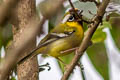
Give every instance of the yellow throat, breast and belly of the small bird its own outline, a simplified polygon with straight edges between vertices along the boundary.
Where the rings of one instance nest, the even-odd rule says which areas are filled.
[[[71,28],[75,28],[76,29],[75,33],[71,35],[70,37],[59,39],[51,43],[50,45],[48,45],[46,49],[48,55],[53,56],[53,57],[64,56],[69,53],[61,54],[60,53],[61,51],[68,50],[68,49],[71,49],[71,48],[74,48],[80,45],[83,39],[83,36],[84,36],[82,26],[77,22],[66,22],[66,25]]]

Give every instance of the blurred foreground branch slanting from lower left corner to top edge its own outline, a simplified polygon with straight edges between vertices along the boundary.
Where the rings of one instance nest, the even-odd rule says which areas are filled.
[[[52,7],[52,11],[49,10],[45,14],[57,13],[57,11],[61,8],[60,6],[62,6],[64,0],[55,0],[54,2],[59,4],[56,5],[53,3],[54,7]],[[48,5],[46,4],[46,6]],[[52,16],[54,15],[47,15],[47,17],[44,16],[44,19],[50,18]],[[25,28],[22,32],[20,36],[21,40],[16,40],[16,44],[18,43],[16,47],[7,51],[8,56],[5,57],[4,61],[0,64],[0,80],[5,80],[6,76],[10,73],[11,69],[13,69],[14,66],[17,64],[19,57],[22,55],[21,53],[24,53],[25,50],[29,48],[28,44],[32,42],[33,38],[36,38],[36,35],[44,22],[43,20],[39,21],[39,19],[36,16],[33,16],[28,22],[28,25],[26,25],[29,26],[29,28]]]

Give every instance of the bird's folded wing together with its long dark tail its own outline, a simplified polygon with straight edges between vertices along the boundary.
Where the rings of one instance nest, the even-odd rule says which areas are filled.
[[[48,45],[49,43],[52,43],[58,39],[61,39],[61,38],[65,38],[65,37],[68,37],[70,36],[72,33],[71,32],[68,32],[66,33],[64,31],[64,28],[66,27],[66,25],[59,25],[57,27],[55,27],[48,35],[46,35],[42,40],[41,42],[39,43],[39,45],[33,49],[29,55],[25,56],[23,59],[21,59],[18,64],[20,64],[21,62],[25,61],[26,59],[28,59],[29,57],[32,57],[32,56],[36,56],[37,54],[34,54],[34,52],[36,50],[38,50],[39,48],[41,47],[44,47],[46,45]]]

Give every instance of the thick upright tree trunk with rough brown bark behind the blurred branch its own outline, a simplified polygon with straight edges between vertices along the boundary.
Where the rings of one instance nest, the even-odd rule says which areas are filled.
[[[32,16],[36,15],[35,0],[20,0],[11,21],[13,24],[13,44],[17,45],[16,40],[21,42],[19,37],[25,28],[29,28],[26,24]],[[22,43],[22,42],[21,42]],[[32,39],[32,43],[28,45],[29,49],[25,50],[24,57],[32,49],[36,47],[36,39]],[[17,65],[18,80],[38,80],[38,62],[37,57],[26,60],[24,63]]]

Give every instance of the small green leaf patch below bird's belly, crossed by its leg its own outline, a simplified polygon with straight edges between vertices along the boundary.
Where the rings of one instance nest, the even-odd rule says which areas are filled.
[[[68,55],[59,57],[65,64],[69,64],[72,60],[72,58],[74,57],[74,53],[70,53]],[[62,72],[64,72],[65,70],[65,64],[63,64],[61,61],[58,60],[58,64],[59,67],[61,68]]]

